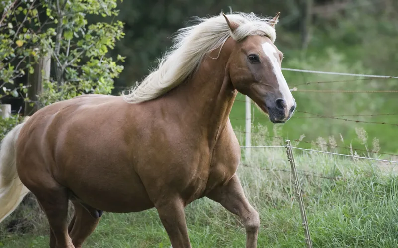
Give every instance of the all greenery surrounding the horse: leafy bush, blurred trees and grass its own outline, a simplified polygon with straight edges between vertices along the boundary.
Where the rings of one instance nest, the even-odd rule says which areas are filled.
[[[14,116],[0,120],[0,138],[21,120],[17,113],[23,113],[24,101],[44,106],[83,93],[120,94],[148,74],[171,46],[173,33],[191,25],[193,16],[216,15],[228,7],[266,16],[281,12],[275,44],[284,52],[285,68],[398,76],[396,0],[3,0],[0,101],[12,103]],[[27,79],[45,54],[51,55],[51,76],[43,82],[43,94],[32,101],[26,98]],[[255,144],[280,145],[281,139],[272,138],[277,136],[299,139],[295,145],[300,147],[354,154],[355,149],[336,148],[352,146],[365,150],[358,150],[359,155],[397,159],[367,150],[398,154],[398,93],[301,90],[398,90],[398,79],[290,71],[284,75],[290,88],[297,88],[297,112],[286,124],[275,125],[253,108]],[[241,144],[243,101],[238,95],[230,115]],[[394,167],[294,152],[302,174],[327,177],[300,176],[315,247],[398,246]],[[252,150],[239,168],[246,194],[260,212],[259,247],[303,247],[286,170],[284,150],[274,149]],[[206,199],[187,207],[187,220],[193,247],[244,244],[239,220]],[[47,244],[46,219],[30,198],[0,225],[0,246]],[[154,210],[105,213],[88,240],[88,247],[94,248],[168,246]]]

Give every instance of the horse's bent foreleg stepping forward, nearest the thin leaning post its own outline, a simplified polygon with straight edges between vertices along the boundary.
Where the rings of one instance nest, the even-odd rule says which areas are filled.
[[[260,218],[246,199],[238,176],[235,174],[226,185],[215,188],[207,197],[242,218],[246,229],[246,248],[256,248]]]

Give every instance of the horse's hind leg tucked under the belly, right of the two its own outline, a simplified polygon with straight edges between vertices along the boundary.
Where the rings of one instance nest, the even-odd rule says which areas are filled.
[[[69,236],[76,248],[81,248],[83,242],[96,229],[102,211],[93,209],[89,206],[83,206],[81,203],[73,201],[75,214],[69,224]]]

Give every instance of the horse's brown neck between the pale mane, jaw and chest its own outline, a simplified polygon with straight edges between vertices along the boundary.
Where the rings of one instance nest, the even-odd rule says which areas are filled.
[[[210,146],[228,123],[237,94],[226,70],[233,44],[228,39],[220,53],[217,49],[206,56],[194,76],[174,92],[184,109],[183,120],[189,120],[200,132],[205,131]]]

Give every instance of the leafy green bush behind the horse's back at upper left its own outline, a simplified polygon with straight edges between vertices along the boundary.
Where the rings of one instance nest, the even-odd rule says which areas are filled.
[[[119,13],[116,6],[116,0],[8,1],[0,23],[3,85],[14,83],[26,71],[33,73],[37,59],[50,53],[55,70],[44,82],[41,104],[80,94],[109,94],[114,78],[123,70],[117,62],[123,62],[124,57],[117,55],[114,60],[107,55],[124,37],[123,23],[89,23],[87,16],[115,18]],[[15,90],[4,91],[9,94]]]

